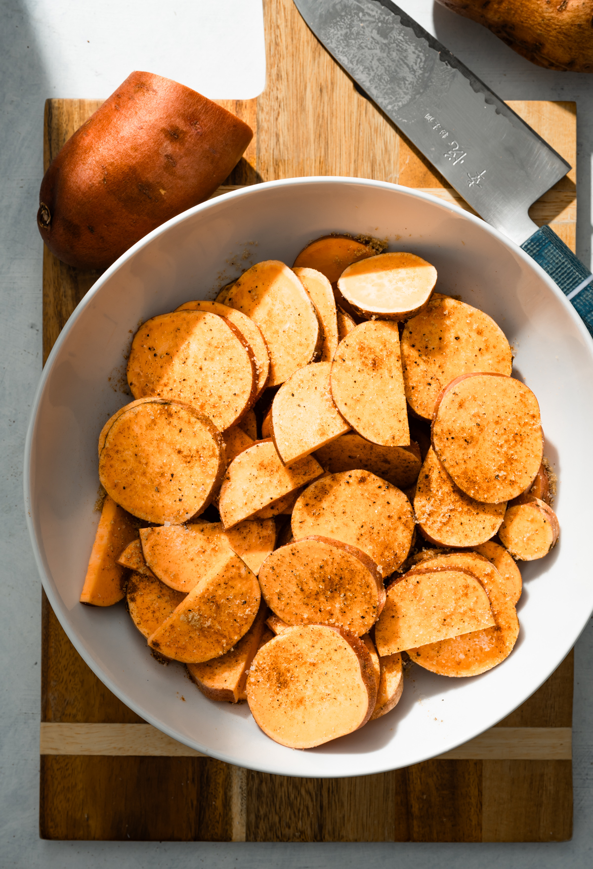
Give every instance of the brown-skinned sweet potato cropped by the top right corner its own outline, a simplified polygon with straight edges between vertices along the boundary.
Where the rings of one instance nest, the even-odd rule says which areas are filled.
[[[593,72],[593,0],[438,0],[549,70]]]

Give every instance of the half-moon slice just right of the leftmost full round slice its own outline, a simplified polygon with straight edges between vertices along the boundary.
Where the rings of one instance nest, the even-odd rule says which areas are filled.
[[[222,481],[219,511],[224,527],[249,519],[321,474],[323,468],[312,456],[285,468],[273,441],[257,441],[230,463]]]

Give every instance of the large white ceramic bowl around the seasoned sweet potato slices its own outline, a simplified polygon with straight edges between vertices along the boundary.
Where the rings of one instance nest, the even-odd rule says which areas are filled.
[[[560,541],[522,567],[521,632],[511,656],[471,679],[414,667],[396,709],[306,752],[261,733],[247,704],[207,700],[185,668],[151,657],[123,604],[78,602],[95,535],[96,443],[123,394],[132,334],[181,302],[214,298],[253,262],[288,264],[332,231],[387,238],[434,263],[437,289],[490,314],[515,348],[515,374],[537,395],[557,471]],[[31,540],[51,606],[97,676],[176,740],[238,766],[299,776],[350,776],[409,766],[497,723],[552,673],[593,609],[593,342],[529,256],[486,223],[432,196],[384,182],[294,178],[205,202],[148,235],[84,297],[53,348],[36,395],[25,455]],[[186,702],[181,702],[181,695]]]

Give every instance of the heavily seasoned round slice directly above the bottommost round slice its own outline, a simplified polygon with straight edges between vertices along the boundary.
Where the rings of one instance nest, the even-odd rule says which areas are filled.
[[[310,536],[268,555],[260,567],[267,606],[287,625],[323,622],[366,634],[385,603],[371,559],[341,541]]]

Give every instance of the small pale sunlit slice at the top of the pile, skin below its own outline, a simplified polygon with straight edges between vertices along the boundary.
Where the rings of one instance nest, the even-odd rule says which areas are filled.
[[[338,289],[365,320],[407,320],[425,308],[436,282],[430,262],[398,251],[353,262],[339,276]]]

